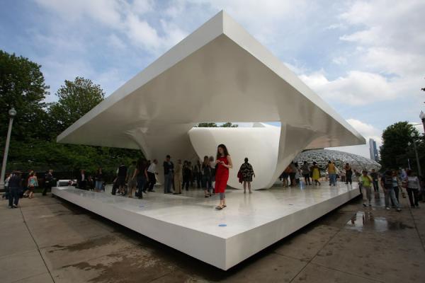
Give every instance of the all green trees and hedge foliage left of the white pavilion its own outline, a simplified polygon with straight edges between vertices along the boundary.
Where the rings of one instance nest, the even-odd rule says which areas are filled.
[[[55,139],[105,97],[101,86],[81,77],[64,81],[56,93],[57,102],[44,102],[49,94],[40,65],[24,57],[0,50],[0,146],[8,127],[8,110],[16,108],[7,170],[29,169],[89,173],[98,166],[112,175],[120,163],[130,163],[142,156],[141,151],[101,146],[58,144]]]

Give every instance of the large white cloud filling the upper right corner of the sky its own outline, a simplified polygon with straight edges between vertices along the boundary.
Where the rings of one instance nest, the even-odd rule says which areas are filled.
[[[378,71],[424,73],[424,13],[422,0],[354,1],[339,18],[356,31],[341,40],[363,47],[361,62]]]

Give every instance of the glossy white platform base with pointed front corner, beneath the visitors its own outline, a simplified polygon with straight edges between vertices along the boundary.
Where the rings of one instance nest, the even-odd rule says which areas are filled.
[[[359,195],[357,186],[273,187],[244,194],[226,192],[227,205],[215,211],[217,196],[202,190],[183,195],[149,192],[143,200],[53,187],[52,193],[166,246],[228,270]]]

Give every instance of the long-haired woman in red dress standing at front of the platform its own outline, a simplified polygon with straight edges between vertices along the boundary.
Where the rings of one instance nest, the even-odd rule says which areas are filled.
[[[224,144],[220,144],[217,147],[217,160],[215,163],[215,193],[220,194],[220,205],[215,207],[215,209],[221,210],[226,207],[225,191],[227,180],[229,180],[229,168],[233,167],[232,158],[230,158],[227,147]]]

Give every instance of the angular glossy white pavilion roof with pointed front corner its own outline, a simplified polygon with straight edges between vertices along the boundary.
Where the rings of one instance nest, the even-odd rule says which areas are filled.
[[[223,11],[118,88],[57,141],[142,147],[150,155],[152,146],[168,144],[158,143],[158,138],[186,142],[186,133],[196,123],[227,121],[280,121],[322,133],[310,148],[365,143]]]

